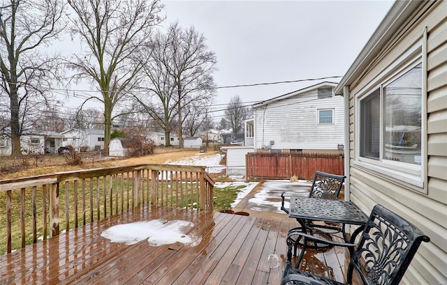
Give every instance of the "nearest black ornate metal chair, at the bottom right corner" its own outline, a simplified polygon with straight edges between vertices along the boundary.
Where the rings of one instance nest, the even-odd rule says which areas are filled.
[[[358,245],[332,242],[306,233],[298,234],[306,240],[318,239],[318,242],[356,249],[351,254],[346,278],[347,284],[352,284],[354,270],[358,272],[363,284],[399,284],[420,243],[430,242],[430,238],[425,236],[416,226],[381,205],[374,206]],[[342,284],[299,270],[299,261],[296,267],[293,267],[291,250],[291,246],[289,246],[288,260],[286,261],[281,284]],[[302,250],[305,250],[305,248]]]

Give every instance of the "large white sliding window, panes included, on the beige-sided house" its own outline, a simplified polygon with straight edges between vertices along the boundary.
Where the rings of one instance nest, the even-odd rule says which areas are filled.
[[[373,91],[358,96],[356,162],[424,187],[423,65],[420,57],[407,62],[379,79]]]

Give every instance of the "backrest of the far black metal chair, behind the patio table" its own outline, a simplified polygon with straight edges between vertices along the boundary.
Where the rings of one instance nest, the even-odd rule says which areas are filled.
[[[337,200],[346,176],[316,171],[309,198]]]

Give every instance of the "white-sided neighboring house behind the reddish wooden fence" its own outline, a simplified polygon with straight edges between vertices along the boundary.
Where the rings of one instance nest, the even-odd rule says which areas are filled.
[[[339,153],[344,144],[343,98],[323,82],[253,105],[245,145],[270,152]]]

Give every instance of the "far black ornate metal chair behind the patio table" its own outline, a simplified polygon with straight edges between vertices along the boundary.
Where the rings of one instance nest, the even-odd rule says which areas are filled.
[[[332,199],[337,200],[338,195],[340,193],[340,190],[342,189],[342,185],[344,183],[344,179],[346,176],[340,176],[335,174],[327,174],[322,171],[316,171],[314,176],[314,182],[312,183],[311,190],[309,192],[309,198],[315,198],[315,199]],[[293,192],[293,191],[284,191],[281,193],[281,210],[284,210],[288,214],[289,210],[284,206],[285,197],[284,194],[286,192]],[[325,238],[328,238],[332,240],[331,233],[339,233],[340,228],[337,225],[320,225],[315,224],[312,221],[309,221],[307,219],[297,219],[297,221],[300,223],[301,226],[291,229],[289,233],[289,240],[294,241],[294,255],[296,256],[297,247],[298,245],[302,245],[302,242],[300,241],[300,237],[293,238],[290,233],[293,233],[295,231],[302,231],[303,227],[306,229],[307,233],[309,234],[318,234],[320,236],[324,236]],[[316,248],[316,249],[327,249],[330,247],[326,244],[319,244],[318,242],[314,242],[312,245],[309,245],[309,247]]]

